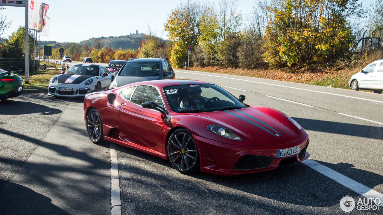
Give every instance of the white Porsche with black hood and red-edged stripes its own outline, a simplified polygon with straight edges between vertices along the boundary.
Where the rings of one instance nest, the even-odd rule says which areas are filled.
[[[65,73],[56,75],[49,81],[51,96],[84,97],[87,93],[102,91],[114,79],[113,73],[96,64],[77,64]]]

